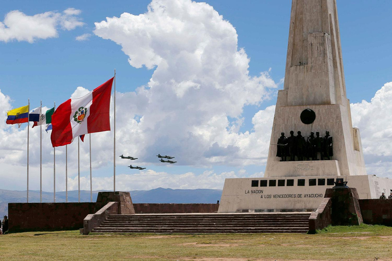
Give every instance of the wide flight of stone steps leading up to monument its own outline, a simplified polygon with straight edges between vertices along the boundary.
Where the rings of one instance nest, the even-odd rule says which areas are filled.
[[[96,233],[306,233],[311,213],[110,215]]]

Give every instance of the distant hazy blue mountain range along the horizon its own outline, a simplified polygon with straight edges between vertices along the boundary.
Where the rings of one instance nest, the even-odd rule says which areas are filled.
[[[96,196],[100,191],[92,192],[92,201],[96,201]],[[173,189],[153,189],[153,190],[133,190],[130,191],[133,203],[216,203],[220,200],[222,190],[173,190]],[[1,190],[0,189],[0,217],[8,215],[8,203],[26,202],[26,191]],[[40,201],[39,191],[29,190],[29,203]],[[53,202],[53,192],[42,191],[42,202]],[[65,202],[65,191],[56,192],[56,202]],[[68,191],[68,202],[78,202],[78,191]],[[90,191],[80,191],[80,202],[90,202]]]

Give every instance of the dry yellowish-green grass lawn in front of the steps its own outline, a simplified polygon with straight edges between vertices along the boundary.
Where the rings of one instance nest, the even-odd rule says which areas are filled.
[[[388,260],[392,228],[328,227],[317,234],[90,234],[0,236],[1,260]]]

